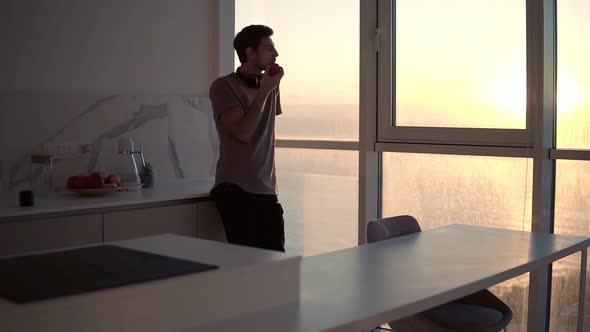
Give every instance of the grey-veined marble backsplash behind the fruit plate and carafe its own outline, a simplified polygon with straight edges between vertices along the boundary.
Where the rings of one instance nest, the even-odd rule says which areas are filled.
[[[119,138],[143,145],[155,182],[212,176],[218,138],[208,97],[192,95],[0,94],[0,179],[3,190],[37,176],[31,154],[60,143],[88,145],[54,161],[54,186],[81,172],[112,172],[124,156]]]

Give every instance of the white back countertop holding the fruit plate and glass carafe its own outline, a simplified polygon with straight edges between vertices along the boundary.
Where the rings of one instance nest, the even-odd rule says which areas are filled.
[[[80,196],[72,192],[35,195],[35,205],[20,207],[18,193],[0,193],[0,222],[38,219],[60,214],[80,214],[92,210],[153,204],[186,199],[205,199],[213,186],[213,178],[177,180],[156,183],[154,188],[140,191],[113,192],[104,196]]]

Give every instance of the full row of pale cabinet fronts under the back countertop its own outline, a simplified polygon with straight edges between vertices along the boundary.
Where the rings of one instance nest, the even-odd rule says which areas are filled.
[[[56,250],[157,234],[225,242],[215,202],[0,223],[0,256]]]

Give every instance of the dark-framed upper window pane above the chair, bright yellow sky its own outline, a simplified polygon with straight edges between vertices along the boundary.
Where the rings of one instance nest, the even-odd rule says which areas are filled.
[[[396,125],[526,128],[525,1],[397,0]]]

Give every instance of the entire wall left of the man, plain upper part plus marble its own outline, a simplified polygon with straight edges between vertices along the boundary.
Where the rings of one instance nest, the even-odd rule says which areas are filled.
[[[201,97],[218,74],[217,13],[216,0],[0,1],[6,187],[30,177],[27,160],[47,143],[100,149],[61,162],[61,173],[108,172],[116,156],[105,144],[120,137],[144,143],[162,178],[211,175],[216,142]]]

